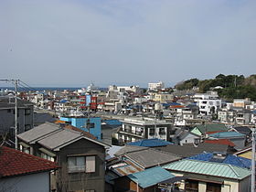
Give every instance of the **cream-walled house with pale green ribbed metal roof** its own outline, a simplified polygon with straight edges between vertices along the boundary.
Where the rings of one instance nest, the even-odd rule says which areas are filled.
[[[187,177],[180,183],[186,191],[251,191],[251,171],[236,165],[183,159],[163,168],[175,176]]]

